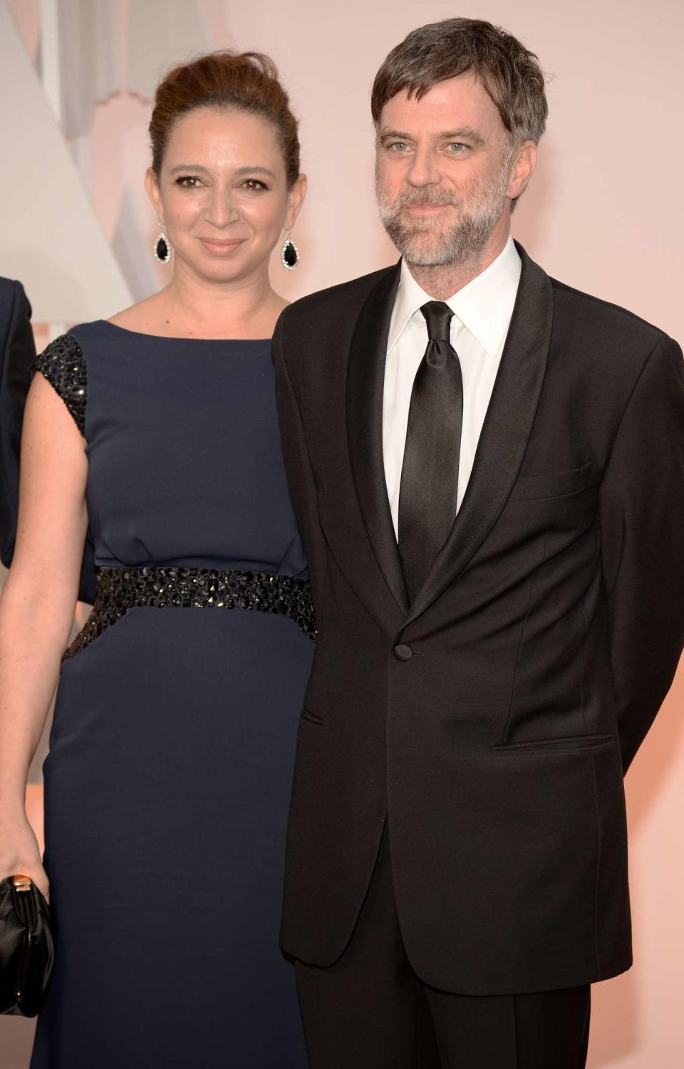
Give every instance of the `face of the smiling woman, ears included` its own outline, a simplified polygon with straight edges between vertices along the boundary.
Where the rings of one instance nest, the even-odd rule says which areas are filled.
[[[276,129],[237,109],[196,108],[169,135],[145,185],[178,266],[206,281],[247,281],[294,226],[306,179],[287,188]]]

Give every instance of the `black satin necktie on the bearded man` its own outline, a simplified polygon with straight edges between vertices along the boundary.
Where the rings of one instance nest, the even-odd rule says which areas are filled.
[[[413,601],[456,517],[463,378],[450,342],[453,312],[423,305],[428,348],[410,396],[399,492],[399,552]]]

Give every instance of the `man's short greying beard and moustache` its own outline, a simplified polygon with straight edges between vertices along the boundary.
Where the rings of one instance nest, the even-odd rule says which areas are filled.
[[[492,232],[501,218],[510,166],[507,160],[492,185],[465,201],[445,190],[425,186],[405,189],[389,204],[376,179],[375,192],[383,226],[404,260],[415,267],[463,266],[478,262]],[[409,205],[451,204],[457,219],[446,229],[437,229],[435,219],[406,219],[403,208]]]

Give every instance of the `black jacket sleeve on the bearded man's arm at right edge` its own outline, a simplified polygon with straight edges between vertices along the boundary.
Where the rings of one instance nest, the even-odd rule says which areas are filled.
[[[684,362],[663,338],[639,375],[601,489],[604,587],[626,772],[684,645]]]

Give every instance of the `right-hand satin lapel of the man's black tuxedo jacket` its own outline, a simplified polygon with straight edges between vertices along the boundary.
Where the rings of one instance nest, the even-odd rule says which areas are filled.
[[[432,605],[483,543],[506,505],[537,414],[550,340],[553,295],[547,275],[516,248],[523,270],[472,474],[447,542],[437,554],[404,625]]]

